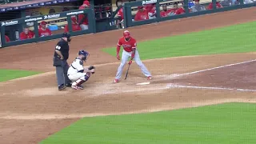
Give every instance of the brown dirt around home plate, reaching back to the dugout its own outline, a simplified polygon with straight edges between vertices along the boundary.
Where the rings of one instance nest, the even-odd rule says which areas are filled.
[[[130,31],[139,41],[161,38],[254,21],[255,10],[184,18],[138,26]],[[153,27],[154,32],[150,32]],[[174,110],[221,102],[256,102],[254,91],[237,90],[256,90],[254,53],[148,60],[145,64],[154,76],[150,85],[136,86],[147,80],[135,64],[126,81],[112,83],[119,63],[101,48],[115,46],[121,33],[122,30],[114,30],[73,38],[70,58],[86,48],[90,51],[89,64],[98,64],[96,74],[85,84],[86,90],[58,92],[55,75],[50,72],[54,70],[51,60],[56,41],[0,50],[2,68],[48,72],[0,83],[0,143],[38,143],[85,116]],[[11,63],[10,58],[14,58]],[[216,68],[219,66],[222,67]]]

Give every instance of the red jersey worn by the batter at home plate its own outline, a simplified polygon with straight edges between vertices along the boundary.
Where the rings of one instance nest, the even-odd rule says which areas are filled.
[[[123,50],[126,50],[127,52],[131,52],[133,51],[133,49],[137,48],[137,43],[134,38],[130,37],[130,40],[126,41],[126,39],[122,37],[118,41],[118,46],[122,46]]]

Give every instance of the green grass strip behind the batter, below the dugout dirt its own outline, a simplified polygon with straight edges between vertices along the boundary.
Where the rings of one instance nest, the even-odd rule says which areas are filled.
[[[138,42],[138,51],[141,59],[250,52],[255,51],[256,47],[254,31],[256,21]],[[103,51],[113,56],[116,54],[115,48],[106,48]]]

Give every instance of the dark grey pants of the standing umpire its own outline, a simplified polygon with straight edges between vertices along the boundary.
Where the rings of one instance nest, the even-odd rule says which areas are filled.
[[[67,70],[69,69],[69,65],[66,62],[66,60],[60,60],[60,59],[59,59],[59,64],[60,65],[55,66],[58,86],[62,84],[66,85],[71,82],[70,79],[67,77]]]

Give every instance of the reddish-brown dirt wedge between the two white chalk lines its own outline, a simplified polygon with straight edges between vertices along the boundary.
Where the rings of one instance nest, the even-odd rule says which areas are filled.
[[[216,67],[198,73],[182,75],[177,78],[175,85],[182,87],[197,86],[198,88],[208,87],[211,89],[221,88],[223,90],[246,90],[256,92],[256,59],[240,62],[237,64]]]

